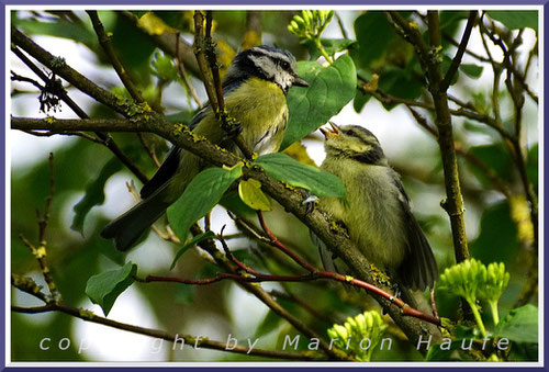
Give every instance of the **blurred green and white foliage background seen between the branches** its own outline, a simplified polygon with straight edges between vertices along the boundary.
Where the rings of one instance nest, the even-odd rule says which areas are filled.
[[[145,13],[145,12],[143,12]],[[307,45],[299,43],[298,37],[290,34],[285,25],[295,12],[265,11],[261,20],[262,42],[291,50],[298,60],[310,58]],[[187,97],[179,82],[159,83],[158,74],[154,74],[152,65],[159,60],[159,50],[150,38],[124,16],[113,11],[100,11],[100,18],[107,29],[112,32],[113,46],[121,57],[132,78],[138,83],[147,100],[158,103],[167,115],[177,115],[183,121],[192,116],[197,105]],[[155,12],[166,24],[181,31],[182,36],[192,43],[192,12]],[[373,74],[380,76],[379,88],[384,92],[403,99],[421,99],[425,97],[422,72],[414,50],[384,21],[381,13],[361,11],[338,11],[344,29],[349,38],[358,44],[349,47],[356,67],[368,80]],[[220,45],[219,58],[227,64],[235,52],[244,43],[249,42],[246,31],[246,11],[214,11],[215,35]],[[467,12],[441,12],[441,27],[445,33],[459,41],[464,27]],[[12,23],[29,34],[44,48],[64,56],[67,63],[82,71],[90,80],[102,87],[123,94],[124,91],[113,74],[110,64],[102,54],[86,13],[14,11]],[[517,31],[514,31],[516,35]],[[334,20],[325,34],[326,37],[341,38],[337,21]],[[517,64],[526,64],[526,59],[537,40],[536,31],[528,27],[523,32],[523,45],[517,48]],[[471,45],[482,54],[478,30],[473,31]],[[57,49],[57,52],[54,52]],[[501,58],[501,50],[490,46],[494,58]],[[448,61],[456,52],[450,43],[444,44],[444,58]],[[500,53],[500,54],[498,54]],[[537,54],[533,55],[531,67],[526,76],[527,83],[537,91],[538,66]],[[444,61],[445,63],[445,61]],[[490,64],[479,61],[466,55],[463,67],[450,93],[464,102],[471,102],[482,112],[491,113],[491,89],[493,72]],[[12,70],[26,75],[23,65],[13,57]],[[503,81],[503,80],[502,80]],[[202,101],[205,93],[201,82],[192,78],[192,84]],[[112,117],[113,113],[82,93],[68,88],[69,95],[85,108],[91,117]],[[159,91],[163,91],[159,94]],[[11,108],[13,115],[44,116],[38,112],[37,91],[23,82],[12,83]],[[187,97],[187,98],[186,98]],[[512,129],[512,100],[503,87],[501,91],[501,115],[505,128]],[[51,113],[54,114],[54,113]],[[61,104],[56,117],[72,117],[70,110]],[[355,100],[346,106],[337,123],[352,122],[372,129],[381,140],[389,155],[391,165],[402,174],[405,188],[414,201],[414,211],[435,251],[439,268],[453,263],[453,248],[448,218],[439,202],[445,198],[442,168],[436,140],[427,132],[419,128],[408,111],[400,104],[382,104],[376,97],[357,92]],[[430,113],[426,112],[430,119]],[[527,151],[527,171],[530,182],[538,183],[538,108],[526,98],[523,116],[524,135],[522,145]],[[522,184],[513,162],[512,155],[495,131],[486,125],[453,117],[455,138],[461,149],[474,155],[491,169],[497,178],[509,187],[514,194],[520,194]],[[12,131],[13,132],[13,131]],[[109,219],[124,212],[133,204],[124,182],[138,181],[116,161],[103,146],[83,138],[31,137],[27,134],[13,132],[11,135],[12,170],[11,170],[11,269],[12,272],[33,277],[42,281],[34,257],[19,239],[24,235],[31,240],[37,238],[35,211],[43,210],[48,194],[49,170],[47,156],[54,151],[56,192],[52,204],[48,235],[48,260],[53,275],[64,300],[75,306],[93,308],[85,294],[88,279],[99,272],[117,268],[124,262],[138,264],[138,273],[166,272],[177,250],[175,245],[163,241],[154,234],[126,257],[119,255],[111,241],[99,237],[99,232]],[[113,134],[115,142],[146,172],[152,176],[156,166],[135,134]],[[169,148],[163,139],[145,135],[148,144],[163,158]],[[304,140],[309,155],[321,164],[322,142],[317,134]],[[506,314],[517,302],[519,293],[527,282],[530,267],[531,247],[520,240],[517,234],[517,217],[513,215],[508,199],[497,192],[485,172],[479,171],[467,158],[459,158],[460,181],[467,206],[466,221],[471,255],[482,262],[503,261],[511,272],[511,282],[501,300],[501,314]],[[102,182],[97,182],[98,174],[103,174]],[[104,196],[103,196],[104,182]],[[96,200],[86,215],[81,234],[70,228],[75,224],[74,206],[88,193]],[[102,200],[104,199],[104,203]],[[213,214],[213,229],[219,232],[228,223],[224,211],[217,207]],[[313,248],[307,228],[285,214],[280,207],[268,214],[269,226],[292,247],[309,258],[310,262],[320,266],[315,248]],[[78,226],[78,221],[76,223]],[[237,233],[229,226],[226,234]],[[269,248],[239,238],[231,240],[231,247],[238,249],[237,255],[245,262],[258,268],[267,268],[272,272],[288,270],[283,260],[271,257]],[[258,253],[258,255],[256,255]],[[276,256],[276,255],[274,255]],[[216,269],[201,258],[198,249],[188,251],[172,272],[183,278],[211,277]],[[290,313],[299,316],[321,335],[337,322],[373,305],[362,293],[345,291],[339,286],[327,286],[324,282],[262,284],[266,289],[288,291],[293,298],[279,298],[279,303]],[[26,295],[12,290],[12,303],[35,305]],[[299,301],[296,301],[298,298]],[[305,311],[300,301],[309,304],[317,316]],[[536,303],[534,296],[531,302]],[[458,316],[458,300],[437,295],[437,304],[441,316]],[[67,315],[53,313],[43,315],[22,315],[12,313],[12,360],[247,360],[247,358],[211,350],[172,351],[165,342],[159,353],[153,353],[152,339],[125,334],[120,330],[104,329],[101,326],[82,324],[81,320]],[[145,327],[168,329],[179,334],[191,334],[226,340],[228,334],[245,342],[248,337],[259,337],[258,347],[280,348],[285,335],[295,332],[285,320],[268,311],[257,300],[244,293],[237,285],[228,281],[208,286],[186,286],[163,283],[133,285],[116,302],[110,317],[125,323]],[[486,317],[490,324],[490,318]],[[393,327],[388,330],[392,337],[399,338],[400,331]],[[69,337],[72,341],[68,350],[53,347],[41,351],[38,342],[49,337],[56,342]],[[83,339],[91,340],[90,349],[78,352],[78,343]],[[112,342],[112,343],[110,343]],[[108,347],[105,347],[108,346]],[[306,347],[302,342],[302,348]],[[410,348],[405,341],[399,341],[390,352],[374,352],[373,360],[421,360],[418,352]]]

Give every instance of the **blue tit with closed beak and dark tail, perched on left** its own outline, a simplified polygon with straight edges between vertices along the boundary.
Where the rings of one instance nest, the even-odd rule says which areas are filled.
[[[231,64],[222,82],[225,109],[240,124],[247,148],[256,154],[276,153],[280,148],[288,123],[285,98],[292,86],[309,83],[298,76],[296,61],[290,52],[256,46],[239,53]],[[199,111],[189,126],[210,142],[239,151],[210,105]],[[204,167],[199,157],[173,146],[142,188],[142,201],[108,224],[101,236],[114,238],[119,250],[132,248]]]

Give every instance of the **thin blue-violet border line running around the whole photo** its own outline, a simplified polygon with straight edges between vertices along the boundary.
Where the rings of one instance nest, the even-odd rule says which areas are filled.
[[[547,26],[544,27],[544,48],[545,48],[545,54],[547,54],[549,52],[549,41],[548,41],[548,37],[547,37],[547,27],[549,27],[549,24],[548,24],[548,21],[549,21],[549,7],[548,7],[548,3],[549,1],[542,1],[542,0],[525,0],[520,3],[517,3],[516,0],[515,1],[512,1],[512,0],[484,0],[483,2],[479,3],[479,1],[472,1],[472,0],[463,0],[463,1],[460,1],[460,2],[457,2],[457,1],[435,1],[435,0],[422,0],[422,1],[417,1],[417,2],[414,2],[414,5],[474,5],[474,7],[479,7],[479,8],[482,8],[482,7],[485,7],[485,5],[544,5],[544,18],[545,18],[545,23]],[[0,90],[0,100],[1,102],[3,103],[2,104],[2,109],[0,110],[0,113],[2,114],[2,117],[4,117],[4,110],[9,110],[9,108],[5,105],[5,97],[4,97],[4,93],[5,93],[5,48],[7,48],[7,45],[5,45],[5,42],[4,42],[4,26],[3,26],[3,20],[4,20],[4,16],[5,16],[5,5],[53,5],[53,4],[56,4],[56,5],[90,5],[90,8],[97,8],[97,7],[101,7],[101,5],[113,5],[114,3],[112,1],[93,1],[93,2],[88,2],[88,1],[81,1],[81,0],[75,0],[75,1],[70,1],[70,0],[57,0],[55,2],[52,2],[52,1],[40,1],[40,0],[34,0],[34,1],[4,1],[4,0],[0,0],[0,20],[1,20],[1,30],[0,30],[0,45],[2,46],[2,50],[3,50],[3,54],[2,54],[2,59],[0,60],[0,67],[1,67],[1,76],[0,76],[0,82],[1,82],[1,87],[2,89]],[[116,5],[124,5],[124,4],[127,4],[127,5],[150,5],[150,2],[149,1],[146,1],[146,0],[119,0],[116,1],[115,3]],[[291,1],[291,0],[280,0],[278,1],[277,3],[274,2],[267,2],[267,1],[261,1],[261,0],[239,0],[239,1],[231,1],[231,5],[322,5],[322,4],[334,4],[334,1],[326,1],[326,0],[301,0],[299,3],[294,2],[294,1]],[[189,2],[183,2],[183,1],[177,1],[177,0],[173,0],[173,1],[167,1],[167,0],[164,0],[164,1],[158,1],[155,3],[155,5],[197,5],[197,8],[204,8],[204,7],[208,7],[208,5],[227,5],[227,2],[226,1],[222,1],[222,0],[210,0],[208,1],[208,5],[204,5],[204,2],[201,2],[201,1],[189,1]],[[405,0],[393,0],[391,1],[390,3],[388,2],[384,2],[384,1],[363,1],[363,0],[345,0],[345,1],[339,1],[337,5],[411,5],[411,2],[410,1],[405,1]],[[545,91],[549,91],[549,74],[547,74],[547,69],[544,67],[544,72],[545,72],[545,81],[544,81],[544,89]],[[547,108],[549,106],[548,105],[548,99],[547,99],[547,95],[544,95],[544,106]],[[547,111],[546,111],[546,117],[547,117]],[[544,123],[545,124],[545,123]],[[9,123],[4,123],[4,125],[9,125]],[[545,125],[544,125],[545,126]],[[1,140],[0,140],[0,149],[2,151],[2,154],[5,156],[5,137],[4,137],[4,132],[1,133],[0,135],[1,137]],[[544,133],[544,140],[545,140],[545,144],[548,144],[548,140],[549,140],[549,127],[545,127],[545,133]],[[544,161],[545,164],[547,164],[548,161],[548,157],[547,157],[547,151],[544,147],[544,154],[542,154],[542,157],[544,157]],[[2,158],[2,160],[4,160],[4,158]],[[5,193],[5,164],[4,161],[0,161],[0,172],[1,172],[1,179],[2,179],[2,182],[1,182],[1,185],[0,185],[0,190],[2,192],[2,195],[4,195]],[[546,176],[546,174],[544,174]],[[544,184],[547,184],[547,177],[544,177]],[[544,192],[544,190],[541,190],[541,192]],[[2,198],[1,201],[0,201],[0,210],[5,212],[5,199]],[[547,206],[544,206],[544,213],[546,215],[548,208]],[[2,216],[0,217],[0,221],[2,221],[2,227],[0,228],[0,238],[2,239],[2,244],[5,241],[5,215],[2,214]],[[544,227],[544,226],[542,226]],[[9,247],[4,247],[4,249],[9,249]],[[544,247],[541,247],[541,249],[544,249]],[[546,267],[546,263],[549,261],[549,258],[547,257],[549,256],[549,252],[548,255],[546,255],[545,257],[545,260],[544,260],[544,268]],[[2,335],[5,335],[5,326],[4,326],[4,320],[5,320],[5,267],[3,264],[3,260],[2,260],[2,264],[0,264],[0,274],[1,274],[1,289],[0,289],[0,295],[1,295],[1,308],[0,308],[0,318],[1,318],[1,324],[0,324],[0,330],[1,330],[1,334]],[[549,294],[549,289],[548,289],[548,285],[545,286],[545,298],[548,298],[548,294]],[[547,322],[545,323],[545,327],[544,327],[544,334],[547,335],[547,330],[549,329],[549,325],[547,324]],[[8,337],[11,337],[11,335],[7,335]],[[546,340],[547,342],[547,340]],[[4,351],[4,347],[5,347],[5,339],[2,338],[0,340],[0,346],[1,346],[1,351],[0,351],[0,368],[2,369],[2,371],[4,370],[10,370],[10,371],[18,371],[18,372],[26,372],[26,371],[36,371],[38,370],[38,368],[18,368],[18,369],[14,369],[14,368],[5,368],[5,351]],[[545,350],[540,350],[540,353],[542,352],[544,353],[544,358],[545,358],[545,361],[546,361],[546,364],[547,364],[547,360],[548,360],[548,356],[549,356],[549,348],[545,348]],[[341,367],[329,367],[329,368],[322,368],[323,371],[338,371],[339,369],[341,368],[345,368],[344,365]],[[354,369],[356,367],[352,367]],[[363,367],[363,368],[367,368],[367,367]],[[414,368],[413,364],[411,365],[411,368]],[[512,364],[509,364],[508,367],[502,367],[502,368],[513,368]],[[64,370],[72,370],[72,369],[77,369],[77,368],[66,368]],[[123,368],[113,368],[113,367],[105,367],[105,368],[100,368],[100,367],[91,367],[91,368],[86,368],[87,371],[110,371],[110,370],[116,370],[116,371],[133,371],[135,369],[138,369],[139,371],[154,371],[158,368],[155,368],[155,367],[132,367],[132,368],[127,368],[127,367],[123,367]],[[173,369],[173,368],[172,368]],[[258,369],[257,367],[219,367],[219,368],[213,368],[213,367],[184,367],[184,368],[175,368],[175,370],[184,370],[184,371],[201,371],[201,372],[204,372],[204,371],[217,371],[220,369],[223,369],[223,370],[242,370],[242,369],[246,369],[246,370],[255,370],[255,369]],[[273,371],[303,371],[303,370],[316,370],[318,369],[318,367],[261,367],[261,370],[273,370]],[[362,368],[359,368],[359,369],[362,369]],[[383,369],[383,371],[401,371],[403,368],[391,368],[391,367],[386,367],[386,368],[381,368]],[[463,367],[463,368],[459,368],[459,367],[456,367],[456,363],[452,363],[451,367],[448,367],[448,368],[440,368],[440,367],[436,367],[436,368],[429,368],[429,370],[434,370],[434,371],[442,371],[442,370],[469,370],[469,369],[477,369],[477,367]],[[549,370],[548,368],[514,368],[514,369],[518,369],[518,370]],[[40,368],[41,371],[58,371],[59,368]]]

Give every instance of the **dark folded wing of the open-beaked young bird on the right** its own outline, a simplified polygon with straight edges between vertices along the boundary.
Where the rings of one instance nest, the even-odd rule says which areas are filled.
[[[407,257],[397,270],[399,279],[412,290],[424,291],[427,286],[433,288],[438,278],[437,262],[425,234],[412,214],[410,198],[396,172],[393,173],[393,181],[400,192],[399,200],[404,212],[408,248]]]

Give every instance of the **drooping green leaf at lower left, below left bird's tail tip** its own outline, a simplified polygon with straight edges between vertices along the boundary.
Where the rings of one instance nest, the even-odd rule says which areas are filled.
[[[91,302],[101,306],[107,316],[114,305],[114,301],[133,284],[133,274],[137,272],[137,264],[127,262],[117,270],[105,271],[88,279],[86,294]]]

